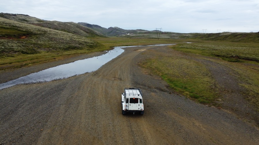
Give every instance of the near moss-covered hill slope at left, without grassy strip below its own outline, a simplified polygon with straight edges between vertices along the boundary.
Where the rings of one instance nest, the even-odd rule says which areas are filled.
[[[103,45],[86,37],[0,17],[0,57],[48,51],[96,49]]]

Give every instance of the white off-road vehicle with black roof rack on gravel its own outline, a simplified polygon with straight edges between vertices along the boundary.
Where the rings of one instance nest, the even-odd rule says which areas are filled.
[[[144,114],[144,106],[142,102],[142,92],[139,88],[124,88],[121,95],[122,114],[126,112],[139,112]]]

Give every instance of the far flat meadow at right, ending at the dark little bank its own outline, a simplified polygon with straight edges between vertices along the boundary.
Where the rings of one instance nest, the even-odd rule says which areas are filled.
[[[200,41],[199,43],[183,43],[172,48],[188,53],[216,56],[230,62],[259,62],[258,43]]]

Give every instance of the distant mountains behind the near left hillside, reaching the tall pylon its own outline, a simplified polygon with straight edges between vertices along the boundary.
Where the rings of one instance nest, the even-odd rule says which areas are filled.
[[[156,31],[148,31],[148,30],[142,30],[142,29],[125,30],[119,27],[109,27],[107,29],[99,25],[92,25],[92,24],[83,23],[83,22],[74,23],[74,22],[46,21],[36,17],[31,17],[29,15],[23,15],[23,14],[0,13],[0,17],[18,21],[21,23],[27,23],[31,25],[64,31],[64,32],[72,33],[83,37],[97,37],[97,36],[98,37],[111,37],[111,36],[142,37],[140,36],[140,34],[145,34],[145,35],[151,34],[151,35],[154,35],[154,37],[157,37]],[[167,32],[167,34],[169,33],[176,34],[173,32]],[[177,34],[179,35],[181,33],[177,33]]]

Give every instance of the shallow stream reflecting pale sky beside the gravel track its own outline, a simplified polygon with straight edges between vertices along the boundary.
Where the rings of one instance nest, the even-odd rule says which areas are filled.
[[[174,44],[170,44],[174,45]],[[154,45],[148,45],[154,46]],[[106,54],[91,57],[87,59],[77,60],[71,63],[58,65],[51,67],[27,76],[17,78],[15,80],[0,84],[0,90],[8,88],[17,84],[36,83],[36,82],[49,82],[52,80],[65,79],[71,76],[85,74],[87,72],[93,72],[99,69],[102,65],[108,61],[114,59],[118,55],[124,52],[125,47],[136,47],[136,46],[120,46],[115,47],[113,50],[108,51]]]

